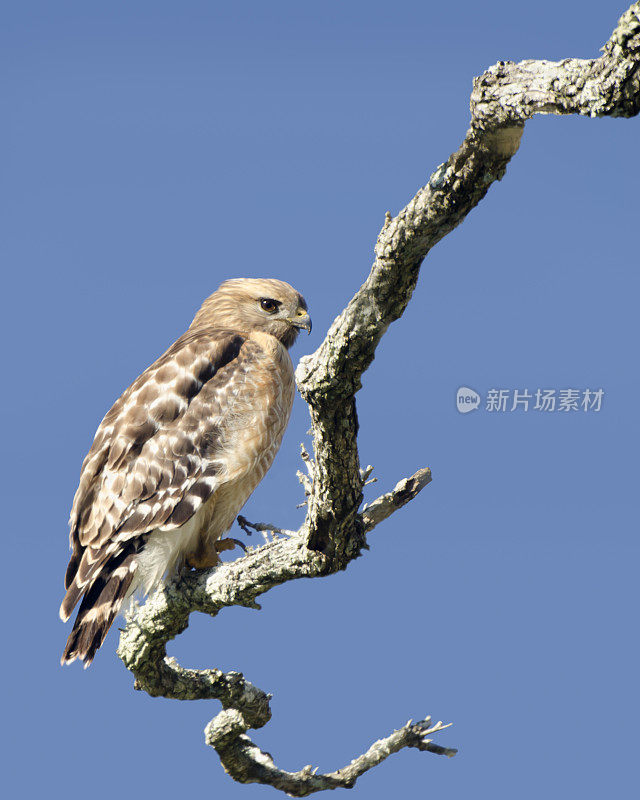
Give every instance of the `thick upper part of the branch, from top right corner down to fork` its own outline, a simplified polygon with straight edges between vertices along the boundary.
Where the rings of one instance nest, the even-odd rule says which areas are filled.
[[[309,545],[343,566],[357,555],[362,500],[354,395],[388,326],[404,312],[431,248],[500,180],[534,114],[634,116],[640,109],[640,3],[621,17],[599,59],[503,62],[474,81],[464,141],[395,217],[387,214],[369,277],[319,349],[300,361],[300,394],[311,413],[317,483]]]

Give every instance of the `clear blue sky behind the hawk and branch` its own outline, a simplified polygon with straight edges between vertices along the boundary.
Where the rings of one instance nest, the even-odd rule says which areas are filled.
[[[625,7],[5,5],[12,796],[275,797],[234,784],[204,745],[217,703],[133,691],[117,632],[91,669],[59,666],[67,518],[95,428],[225,278],[293,283],[314,320],[293,355],[315,349],[385,211],[460,143],[473,76],[597,56]],[[528,124],[504,180],[430,253],[358,396],[369,497],[423,465],[432,485],[346,573],[272,591],[260,613],[194,617],[171,647],[274,693],[255,739],[283,767],[337,768],[431,713],[455,723],[441,741],[459,756],[402,752],[353,796],[637,789],[639,133],[637,119]],[[605,396],[598,413],[461,415],[461,385]],[[249,519],[302,519],[307,427],[298,400]]]

